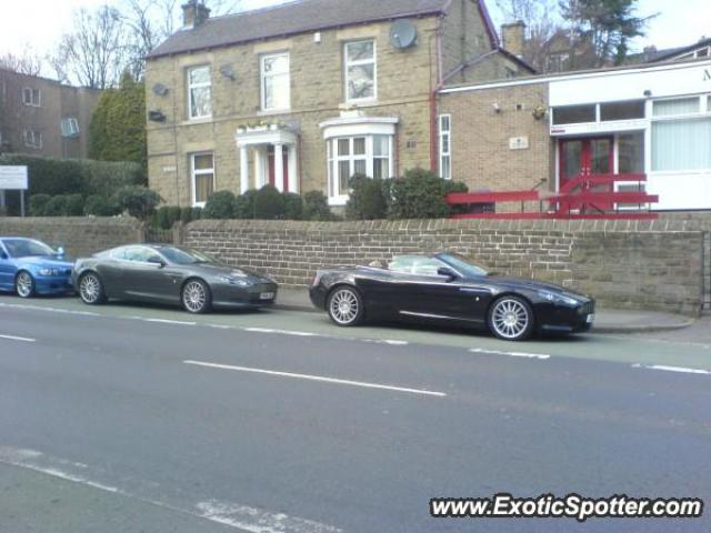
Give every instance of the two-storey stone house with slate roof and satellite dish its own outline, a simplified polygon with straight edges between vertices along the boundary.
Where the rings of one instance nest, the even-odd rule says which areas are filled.
[[[354,173],[451,178],[448,82],[530,73],[483,0],[301,0],[210,18],[198,0],[148,57],[150,187],[202,205],[218,190],[319,190]]]

